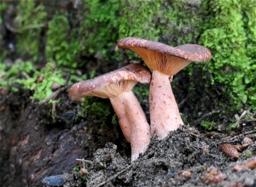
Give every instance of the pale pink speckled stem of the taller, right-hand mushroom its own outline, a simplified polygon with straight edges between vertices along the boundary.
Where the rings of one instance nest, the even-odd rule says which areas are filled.
[[[150,84],[151,134],[157,135],[160,139],[183,125],[169,77],[153,70]]]

